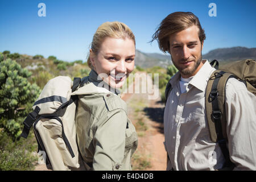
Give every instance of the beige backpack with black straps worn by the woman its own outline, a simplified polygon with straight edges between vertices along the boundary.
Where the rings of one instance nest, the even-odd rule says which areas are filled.
[[[84,77],[86,78],[86,77]],[[27,138],[33,126],[38,152],[45,154],[48,169],[57,171],[85,170],[76,143],[76,105],[79,96],[93,93],[110,93],[92,82],[82,85],[84,78],[58,76],[44,86],[34,111],[24,120],[20,137]]]

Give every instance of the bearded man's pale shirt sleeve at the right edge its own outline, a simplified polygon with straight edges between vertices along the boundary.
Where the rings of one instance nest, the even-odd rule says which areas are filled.
[[[256,170],[256,97],[245,84],[230,78],[226,84],[228,148],[234,170]]]

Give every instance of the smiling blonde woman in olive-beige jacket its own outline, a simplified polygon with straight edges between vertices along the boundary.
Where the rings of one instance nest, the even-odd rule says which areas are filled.
[[[77,144],[87,170],[131,170],[138,138],[119,90],[134,69],[135,38],[126,24],[106,22],[93,36],[77,102]]]

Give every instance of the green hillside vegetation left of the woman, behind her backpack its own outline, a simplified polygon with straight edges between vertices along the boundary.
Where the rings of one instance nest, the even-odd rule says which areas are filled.
[[[24,119],[49,79],[60,75],[84,77],[89,71],[81,60],[68,63],[55,56],[0,52],[0,171],[34,169],[38,159],[34,132],[27,139],[19,135]]]

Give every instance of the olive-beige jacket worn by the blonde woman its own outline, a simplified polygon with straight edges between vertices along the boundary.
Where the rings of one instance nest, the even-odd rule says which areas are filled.
[[[135,127],[119,90],[102,88],[97,76],[92,70],[83,78],[82,88],[88,93],[77,102],[77,144],[83,162],[87,170],[131,170],[131,155],[138,145]]]

